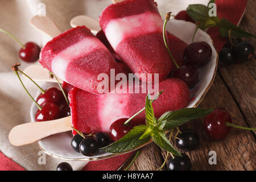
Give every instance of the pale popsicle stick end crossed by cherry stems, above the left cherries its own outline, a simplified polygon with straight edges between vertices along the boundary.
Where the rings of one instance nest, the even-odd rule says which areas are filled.
[[[23,71],[26,75],[28,75],[34,81],[44,81],[44,82],[57,82],[55,78],[49,77],[49,71],[46,68],[43,68],[42,65],[30,65]],[[28,79],[23,75],[23,78]],[[58,78],[60,83],[63,81]]]

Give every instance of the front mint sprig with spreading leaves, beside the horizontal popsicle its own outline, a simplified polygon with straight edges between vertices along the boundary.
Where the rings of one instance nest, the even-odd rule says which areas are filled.
[[[180,156],[180,152],[172,146],[170,140],[166,137],[166,131],[174,127],[183,125],[191,119],[205,117],[210,114],[213,109],[203,108],[186,108],[176,111],[164,113],[159,119],[155,118],[150,94],[146,97],[146,125],[135,126],[124,137],[116,142],[102,148],[106,152],[126,152],[133,150],[152,139],[159,147]]]

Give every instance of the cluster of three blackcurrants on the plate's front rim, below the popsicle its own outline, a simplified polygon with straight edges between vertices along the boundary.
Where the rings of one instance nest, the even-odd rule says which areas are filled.
[[[80,152],[82,155],[93,156],[98,153],[99,148],[108,146],[109,142],[109,135],[104,132],[88,135],[88,137],[85,135],[85,138],[76,134],[71,140],[71,146],[73,150]]]

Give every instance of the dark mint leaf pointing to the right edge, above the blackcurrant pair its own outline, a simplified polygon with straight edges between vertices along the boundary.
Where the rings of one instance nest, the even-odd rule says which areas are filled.
[[[249,32],[246,32],[242,30],[242,28],[237,27],[235,24],[232,22],[229,22],[229,20],[222,18],[220,22],[220,28],[218,31],[220,32],[222,37],[227,37],[229,36],[229,30],[231,31],[231,36],[234,36],[236,38],[255,38],[253,34],[250,34]]]

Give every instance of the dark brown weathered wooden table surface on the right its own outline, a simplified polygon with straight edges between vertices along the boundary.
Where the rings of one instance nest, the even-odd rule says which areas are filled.
[[[240,27],[256,35],[256,1],[247,2],[245,16]],[[247,39],[256,47],[255,39]],[[232,115],[233,123],[246,127],[256,127],[255,122],[255,56],[243,64],[225,66],[218,64],[216,78],[199,107],[222,107]],[[232,129],[224,140],[210,140],[203,127],[203,119],[188,122],[181,129],[197,131],[201,139],[200,147],[185,152],[192,162],[192,170],[255,170],[255,132]],[[216,151],[217,164],[208,163],[209,151]],[[134,156],[134,155],[133,155]],[[124,164],[125,169],[133,156]],[[141,149],[129,170],[155,170],[164,162],[166,152],[151,143]],[[164,170],[167,168],[164,167]]]

